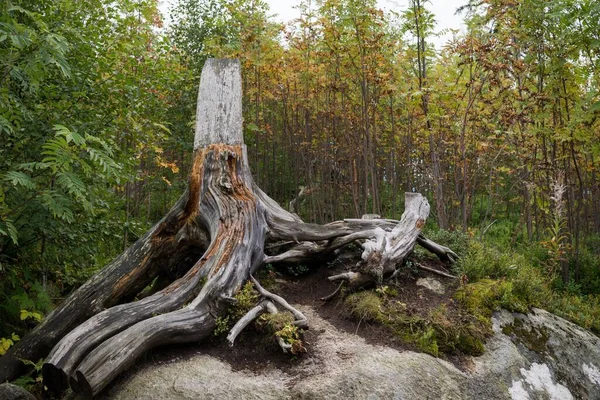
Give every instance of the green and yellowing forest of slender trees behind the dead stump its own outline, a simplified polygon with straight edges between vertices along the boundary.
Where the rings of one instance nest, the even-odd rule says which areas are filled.
[[[0,355],[159,220],[187,185],[200,71],[239,58],[254,179],[303,219],[398,219],[464,282],[600,332],[600,3],[3,0]],[[33,360],[34,363],[37,360]]]

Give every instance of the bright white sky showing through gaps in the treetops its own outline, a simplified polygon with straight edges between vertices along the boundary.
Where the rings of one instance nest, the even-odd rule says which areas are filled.
[[[289,22],[300,16],[300,12],[294,7],[300,0],[265,0],[269,4],[271,13],[277,14],[276,20],[280,22]],[[456,15],[456,9],[465,5],[467,0],[430,0],[426,7],[435,14],[437,22],[436,32],[447,30],[445,34],[434,37],[431,40],[436,48],[440,49],[446,42],[452,39],[452,33],[449,29],[462,31],[464,24],[462,16]],[[398,13],[406,10],[408,0],[378,0],[377,4],[385,11],[396,11]]]

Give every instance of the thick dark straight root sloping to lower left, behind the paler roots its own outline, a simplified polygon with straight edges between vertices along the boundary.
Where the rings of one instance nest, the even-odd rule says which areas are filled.
[[[0,382],[20,375],[24,368],[22,359],[44,358],[66,333],[87,318],[106,307],[133,299],[162,270],[180,262],[191,242],[205,247],[202,229],[194,232],[195,237],[173,240],[185,219],[187,197],[188,193],[144,236],[79,287],[32,332],[11,347],[0,358]]]

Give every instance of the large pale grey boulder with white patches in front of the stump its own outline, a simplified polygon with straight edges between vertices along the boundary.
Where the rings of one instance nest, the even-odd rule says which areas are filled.
[[[300,308],[318,333],[310,353],[285,370],[235,371],[223,360],[196,355],[149,363],[102,398],[600,399],[600,339],[543,310],[496,313],[485,354],[465,371],[427,354],[368,344]]]

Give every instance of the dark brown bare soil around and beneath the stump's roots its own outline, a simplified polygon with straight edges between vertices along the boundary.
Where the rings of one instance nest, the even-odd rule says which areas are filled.
[[[306,308],[314,310],[340,331],[358,335],[372,345],[387,346],[400,351],[420,351],[415,344],[403,340],[387,326],[376,321],[350,316],[347,307],[344,306],[343,295],[338,295],[330,301],[321,300],[337,287],[337,284],[330,282],[327,277],[346,271],[355,263],[356,260],[348,260],[333,266],[323,265],[320,268],[314,265],[308,272],[297,276],[272,270],[263,274],[263,277],[270,275],[269,290],[283,296],[290,304],[298,305],[300,310]],[[437,260],[427,260],[422,263],[430,268],[447,272]],[[417,285],[419,278],[434,278],[442,282],[445,293],[437,294]],[[395,289],[391,301],[402,304],[408,315],[427,319],[435,310],[443,309],[445,318],[458,320],[464,313],[462,305],[454,299],[459,287],[457,280],[413,268],[400,274],[393,285],[389,283],[388,285]],[[299,355],[283,353],[272,337],[267,337],[264,332],[259,332],[251,325],[237,338],[234,347],[229,346],[226,335],[219,335],[198,344],[171,345],[168,349],[159,348],[149,352],[145,358],[147,362],[162,364],[184,360],[197,354],[206,354],[227,362],[234,371],[250,370],[260,373],[266,368],[273,367],[286,371],[300,358],[311,357],[311,343],[316,342],[318,335],[322,333],[315,329],[306,330],[303,341],[307,351]],[[470,358],[460,353],[440,353],[440,357],[463,370],[468,369],[470,364]],[[141,364],[144,363],[139,363]]]

